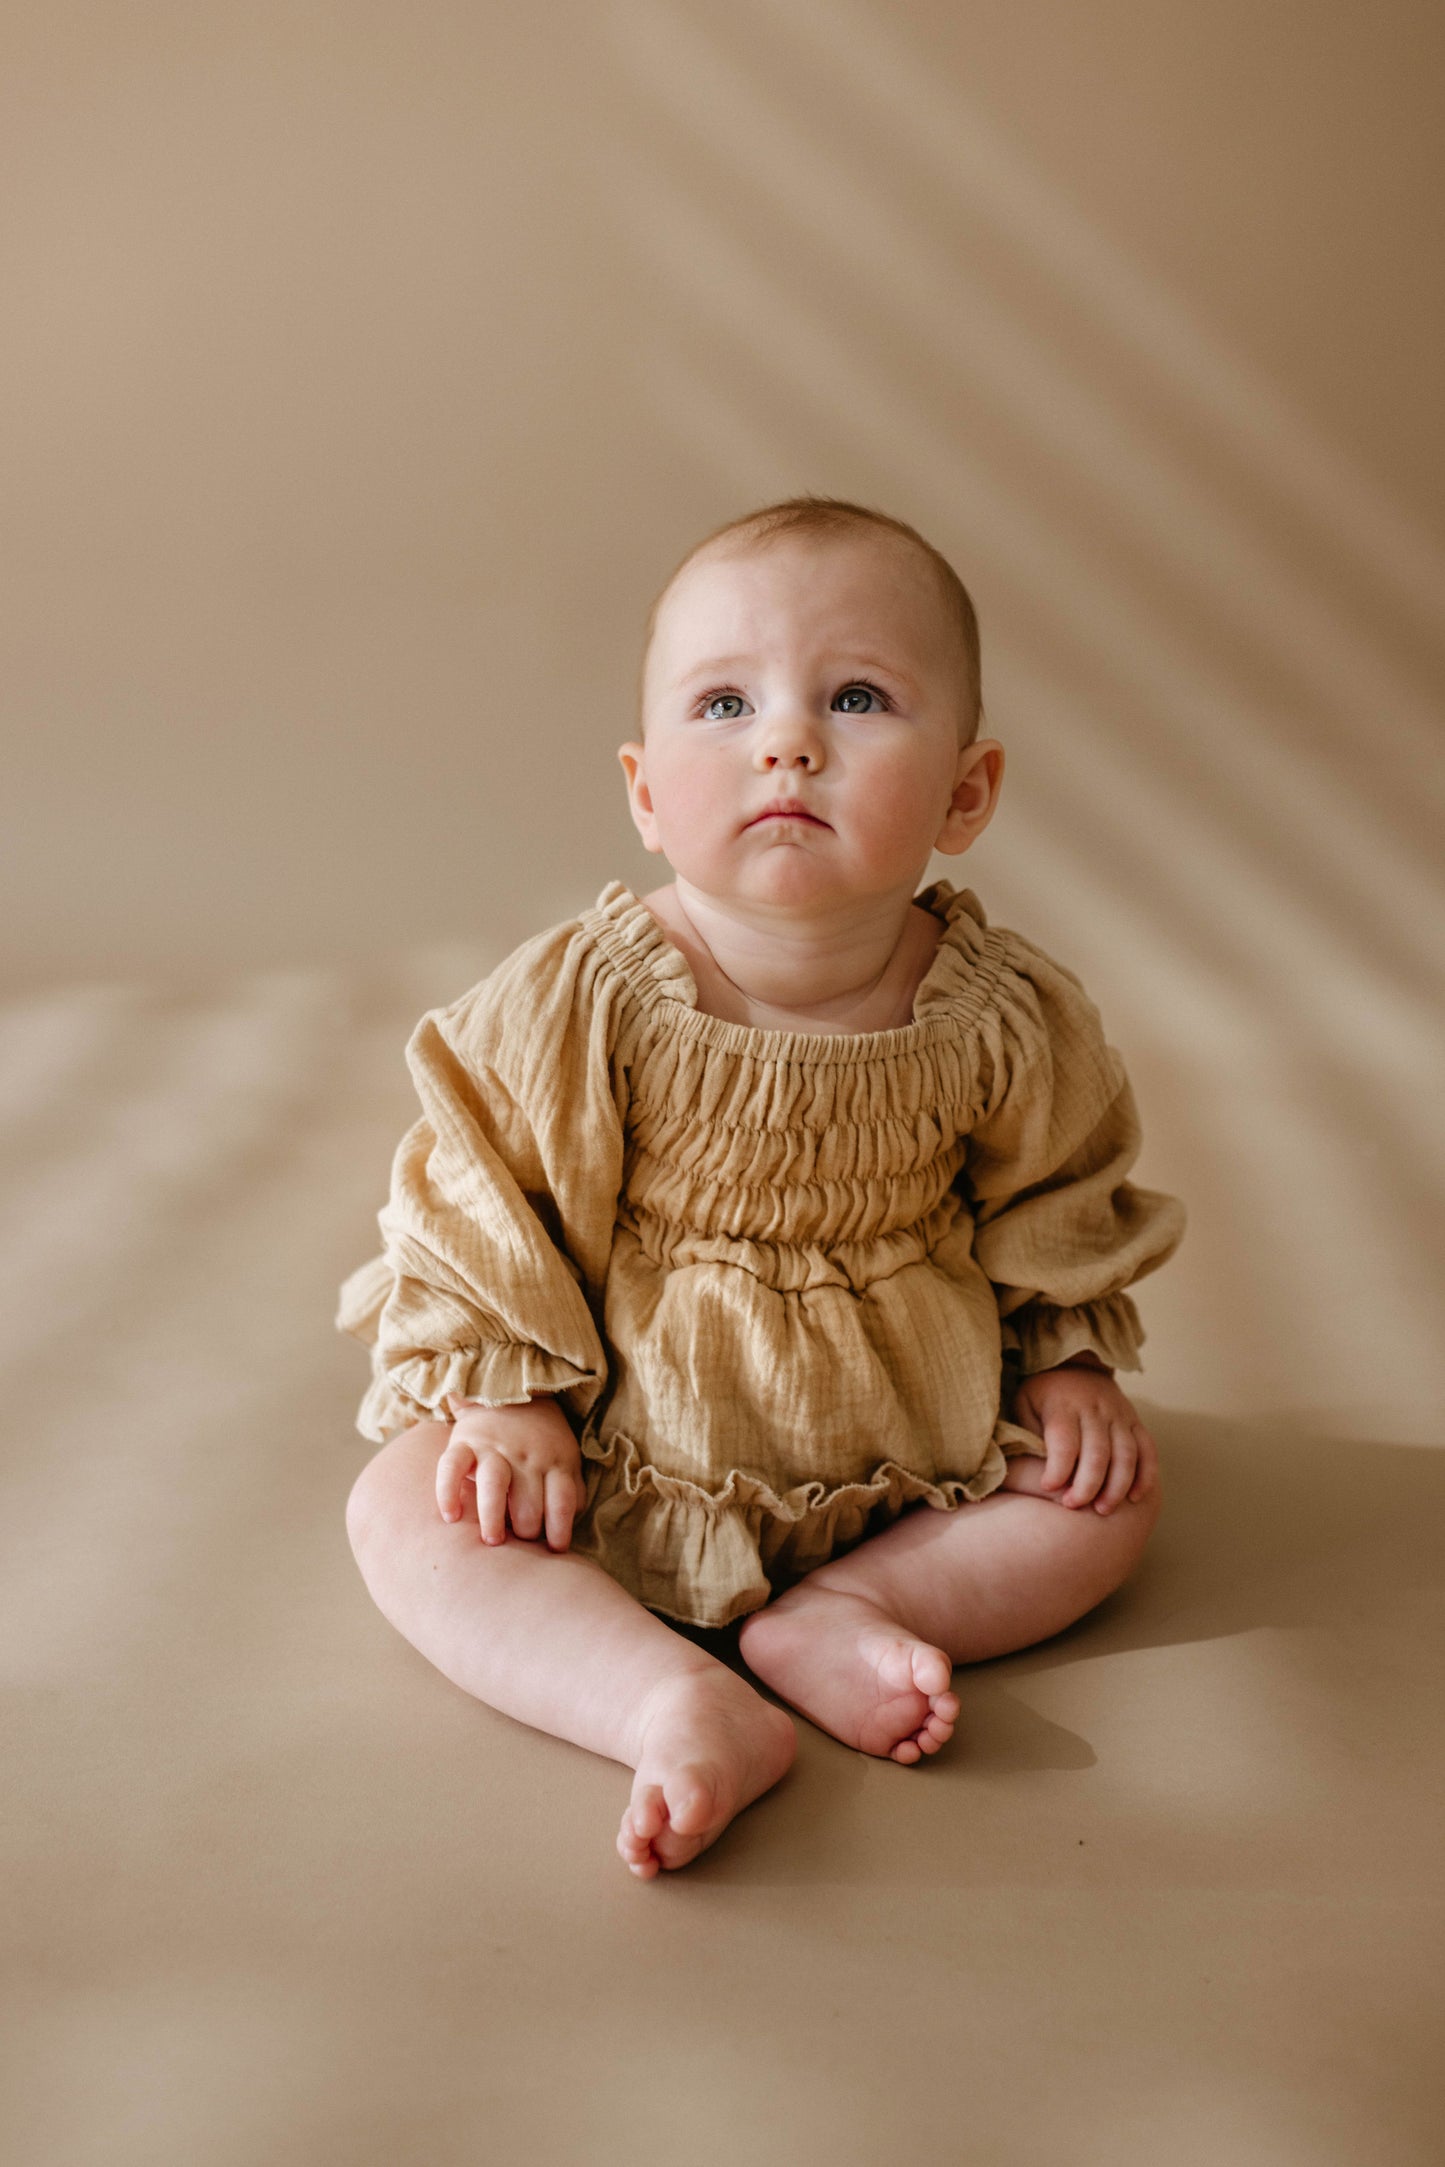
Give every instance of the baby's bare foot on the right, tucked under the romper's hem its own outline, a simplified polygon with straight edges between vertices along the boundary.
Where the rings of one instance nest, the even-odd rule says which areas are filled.
[[[953,1736],[953,1664],[864,1595],[799,1582],[739,1636],[765,1686],[845,1747],[910,1766]]]

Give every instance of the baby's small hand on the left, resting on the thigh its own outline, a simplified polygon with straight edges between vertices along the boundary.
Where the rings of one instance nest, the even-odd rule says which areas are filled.
[[[557,1400],[539,1398],[522,1406],[464,1402],[435,1469],[442,1519],[461,1519],[461,1489],[472,1476],[483,1543],[505,1543],[511,1521],[520,1541],[535,1543],[546,1528],[548,1549],[568,1549],[572,1521],[585,1502],[583,1454]]]

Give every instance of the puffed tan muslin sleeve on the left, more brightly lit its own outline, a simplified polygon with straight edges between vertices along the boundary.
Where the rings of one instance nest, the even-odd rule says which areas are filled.
[[[626,1101],[611,984],[570,923],[412,1034],[420,1118],[392,1164],[383,1250],[336,1318],[370,1346],[364,1437],[453,1400],[557,1391],[581,1419],[598,1398]]]

